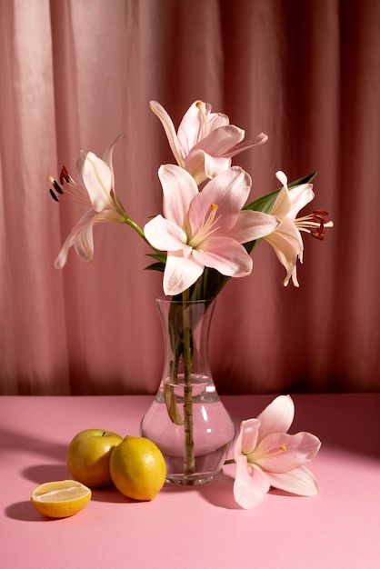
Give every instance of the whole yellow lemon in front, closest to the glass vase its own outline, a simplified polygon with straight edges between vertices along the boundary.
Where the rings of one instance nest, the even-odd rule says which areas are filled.
[[[165,458],[149,439],[125,436],[111,455],[110,473],[116,488],[128,498],[152,500],[165,484]]]

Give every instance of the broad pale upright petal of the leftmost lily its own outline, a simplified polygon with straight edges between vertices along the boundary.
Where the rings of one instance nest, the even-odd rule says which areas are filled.
[[[112,207],[110,197],[113,175],[108,165],[93,152],[85,155],[82,177],[95,212]]]

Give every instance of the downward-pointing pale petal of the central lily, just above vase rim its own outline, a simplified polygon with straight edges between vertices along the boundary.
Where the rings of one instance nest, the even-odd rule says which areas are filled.
[[[204,268],[192,259],[192,256],[185,257],[182,252],[168,253],[164,272],[164,293],[168,295],[183,293],[202,275]]]

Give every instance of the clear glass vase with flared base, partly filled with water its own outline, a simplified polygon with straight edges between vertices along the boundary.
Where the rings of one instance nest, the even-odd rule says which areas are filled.
[[[156,299],[165,363],[141,434],[165,456],[167,482],[204,484],[222,468],[235,425],[219,399],[208,363],[215,301]]]

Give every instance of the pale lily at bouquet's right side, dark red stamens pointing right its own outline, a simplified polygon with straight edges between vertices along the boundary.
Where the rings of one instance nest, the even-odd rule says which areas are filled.
[[[295,217],[299,210],[311,202],[315,194],[312,184],[298,185],[289,192],[287,178],[284,172],[276,172],[276,178],[283,185],[275,199],[275,204],[268,212],[281,220],[275,232],[265,236],[265,240],[275,249],[275,255],[282,265],[285,266],[286,276],[284,285],[289,283],[290,278],[295,286],[299,286],[296,274],[297,259],[303,262],[304,243],[301,231],[304,231],[316,239],[325,238],[325,227],[333,227],[332,221],[325,221],[327,212],[317,210],[304,217]]]

